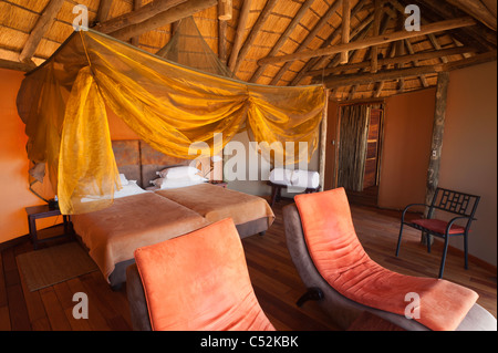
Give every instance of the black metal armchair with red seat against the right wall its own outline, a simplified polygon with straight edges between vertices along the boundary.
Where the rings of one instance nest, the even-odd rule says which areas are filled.
[[[411,204],[405,207],[402,215],[400,238],[397,240],[396,257],[400,255],[400,246],[403,235],[403,227],[408,226],[421,230],[427,235],[445,239],[443,258],[439,268],[439,278],[443,278],[443,272],[445,269],[446,253],[448,250],[449,238],[455,236],[464,237],[464,248],[465,248],[465,269],[468,269],[468,232],[470,225],[474,220],[477,220],[474,216],[477,210],[477,205],[479,204],[480,196],[464,194],[455,190],[449,190],[445,188],[436,188],[433,200],[430,205],[425,204]],[[411,221],[405,220],[405,215],[409,208],[413,206],[425,206],[428,207],[427,218],[415,219]],[[442,220],[434,218],[436,210],[440,210],[456,217],[450,220]],[[463,220],[463,225],[457,225],[456,221]],[[427,239],[427,251],[430,252],[430,240]]]

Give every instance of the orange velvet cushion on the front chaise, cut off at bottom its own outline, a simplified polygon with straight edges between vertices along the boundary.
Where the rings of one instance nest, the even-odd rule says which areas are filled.
[[[135,259],[153,330],[274,330],[252,290],[231,219],[139,248]]]

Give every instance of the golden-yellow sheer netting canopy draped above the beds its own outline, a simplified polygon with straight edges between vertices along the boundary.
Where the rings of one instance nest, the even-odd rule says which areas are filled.
[[[324,106],[322,85],[250,84],[92,30],[74,32],[27,74],[18,94],[30,174],[39,181],[48,174],[63,215],[105,208],[121,189],[106,108],[166,155],[214,156],[245,128],[261,149],[271,147],[276,157],[294,164],[317,149]],[[287,142],[308,143],[308,150],[294,156]]]

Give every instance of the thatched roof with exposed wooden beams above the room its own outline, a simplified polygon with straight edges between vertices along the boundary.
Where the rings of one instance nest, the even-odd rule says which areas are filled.
[[[151,53],[194,14],[238,79],[323,82],[339,100],[434,86],[440,71],[496,59],[496,0],[0,0],[0,68],[49,59],[72,33],[79,3],[92,28]],[[408,4],[421,9],[422,32],[404,29]]]

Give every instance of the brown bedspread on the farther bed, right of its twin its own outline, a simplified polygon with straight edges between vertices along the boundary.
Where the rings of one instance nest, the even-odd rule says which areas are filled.
[[[268,218],[268,227],[270,227],[274,220],[273,211],[263,198],[212,184],[163,189],[155,193],[196,211],[209,222],[231,218],[236,225],[242,225]]]

